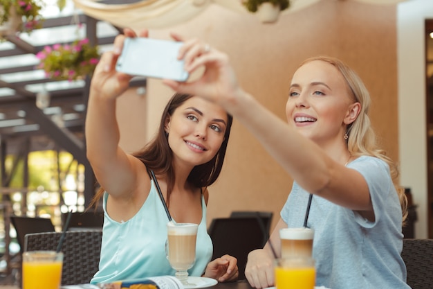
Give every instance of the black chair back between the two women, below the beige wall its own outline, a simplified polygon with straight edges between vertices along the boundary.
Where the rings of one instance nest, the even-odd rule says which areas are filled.
[[[224,254],[236,257],[239,279],[245,279],[248,253],[264,247],[268,236],[256,217],[215,218],[208,233],[214,245],[212,260]]]

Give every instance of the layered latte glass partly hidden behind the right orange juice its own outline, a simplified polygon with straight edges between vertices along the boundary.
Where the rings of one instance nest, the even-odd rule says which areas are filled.
[[[284,228],[279,230],[281,238],[282,258],[293,256],[313,256],[313,229],[301,228]]]

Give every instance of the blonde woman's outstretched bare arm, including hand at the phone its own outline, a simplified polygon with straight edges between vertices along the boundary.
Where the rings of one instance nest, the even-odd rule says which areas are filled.
[[[178,35],[174,37],[179,38]],[[225,53],[216,49],[208,50],[207,45],[199,40],[189,40],[185,42],[180,57],[185,59],[187,71],[192,72],[204,66],[205,72],[193,82],[165,80],[166,85],[178,92],[202,96],[223,106],[255,135],[268,153],[306,191],[349,209],[372,209],[365,179],[360,173],[344,166],[349,152],[344,147],[343,139],[338,146],[332,143],[326,149],[302,136],[239,86]],[[348,117],[352,116],[352,112],[347,113]]]

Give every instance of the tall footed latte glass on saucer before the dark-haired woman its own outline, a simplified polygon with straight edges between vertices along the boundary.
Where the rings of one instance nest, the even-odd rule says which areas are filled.
[[[192,223],[167,223],[167,259],[184,285],[189,285],[187,270],[196,260],[198,228],[199,225]]]

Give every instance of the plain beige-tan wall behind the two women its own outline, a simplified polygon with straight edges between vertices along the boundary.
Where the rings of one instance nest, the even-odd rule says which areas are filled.
[[[396,6],[323,0],[280,17],[276,24],[261,24],[255,15],[211,6],[185,24],[151,30],[151,37],[169,38],[169,31],[200,37],[226,51],[243,87],[282,119],[291,75],[302,60],[321,54],[344,60],[365,80],[373,99],[371,121],[389,155],[398,157]],[[149,80],[147,91],[139,98],[142,101],[134,91],[120,100],[125,102],[119,116],[122,146],[127,150],[140,148],[143,136],[149,139],[154,134],[172,95],[159,80]],[[234,210],[257,210],[273,211],[275,225],[291,183],[291,177],[234,121],[225,166],[210,187],[208,222]]]

